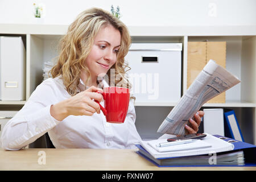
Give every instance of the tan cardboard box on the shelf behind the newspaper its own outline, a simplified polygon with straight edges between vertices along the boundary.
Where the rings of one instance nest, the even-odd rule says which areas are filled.
[[[187,88],[210,59],[226,68],[226,42],[188,42]],[[225,92],[208,103],[225,103]]]

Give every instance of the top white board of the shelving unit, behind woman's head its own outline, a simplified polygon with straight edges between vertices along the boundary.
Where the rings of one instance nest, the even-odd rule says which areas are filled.
[[[131,36],[243,36],[255,35],[256,26],[129,26]],[[68,25],[0,24],[1,34],[64,35]]]

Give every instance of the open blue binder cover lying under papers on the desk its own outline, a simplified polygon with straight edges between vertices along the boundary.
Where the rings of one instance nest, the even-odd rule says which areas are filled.
[[[250,143],[241,142],[239,140],[235,140],[228,137],[223,137],[221,135],[213,135],[214,137],[223,139],[227,142],[232,142],[234,144],[234,151],[242,150],[245,155],[245,165],[244,166],[230,166],[230,165],[189,165],[189,166],[160,166],[159,164],[155,163],[153,160],[148,158],[147,156],[143,155],[141,152],[136,151],[137,154],[141,155],[144,159],[149,160],[151,163],[155,164],[158,167],[254,167],[256,166],[256,146]],[[140,144],[136,145],[140,150],[147,152]],[[231,151],[230,151],[231,152]]]

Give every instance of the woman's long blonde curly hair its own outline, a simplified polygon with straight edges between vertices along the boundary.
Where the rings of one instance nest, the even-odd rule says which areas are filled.
[[[61,76],[65,88],[71,96],[82,91],[79,88],[81,72],[85,71],[88,75],[88,79],[85,82],[85,85],[87,85],[90,79],[90,71],[84,61],[90,53],[98,31],[102,26],[108,25],[116,28],[121,34],[121,46],[117,53],[117,61],[110,68],[114,69],[115,75],[119,77],[119,80],[114,81],[114,85],[122,83],[123,87],[131,88],[126,76],[126,72],[130,70],[130,67],[125,63],[124,59],[131,44],[128,28],[108,11],[92,8],[80,13],[75,21],[70,24],[67,34],[61,38],[59,43],[60,53],[57,57],[57,64],[50,71],[53,78]],[[107,73],[109,78],[110,69]],[[113,82],[111,85],[113,85]]]

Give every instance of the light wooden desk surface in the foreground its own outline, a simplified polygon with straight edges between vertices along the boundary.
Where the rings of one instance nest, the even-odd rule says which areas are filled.
[[[39,151],[45,152],[46,164],[42,164],[43,155]],[[28,148],[19,151],[0,149],[0,170],[256,170],[256,167],[159,168],[135,150]]]

